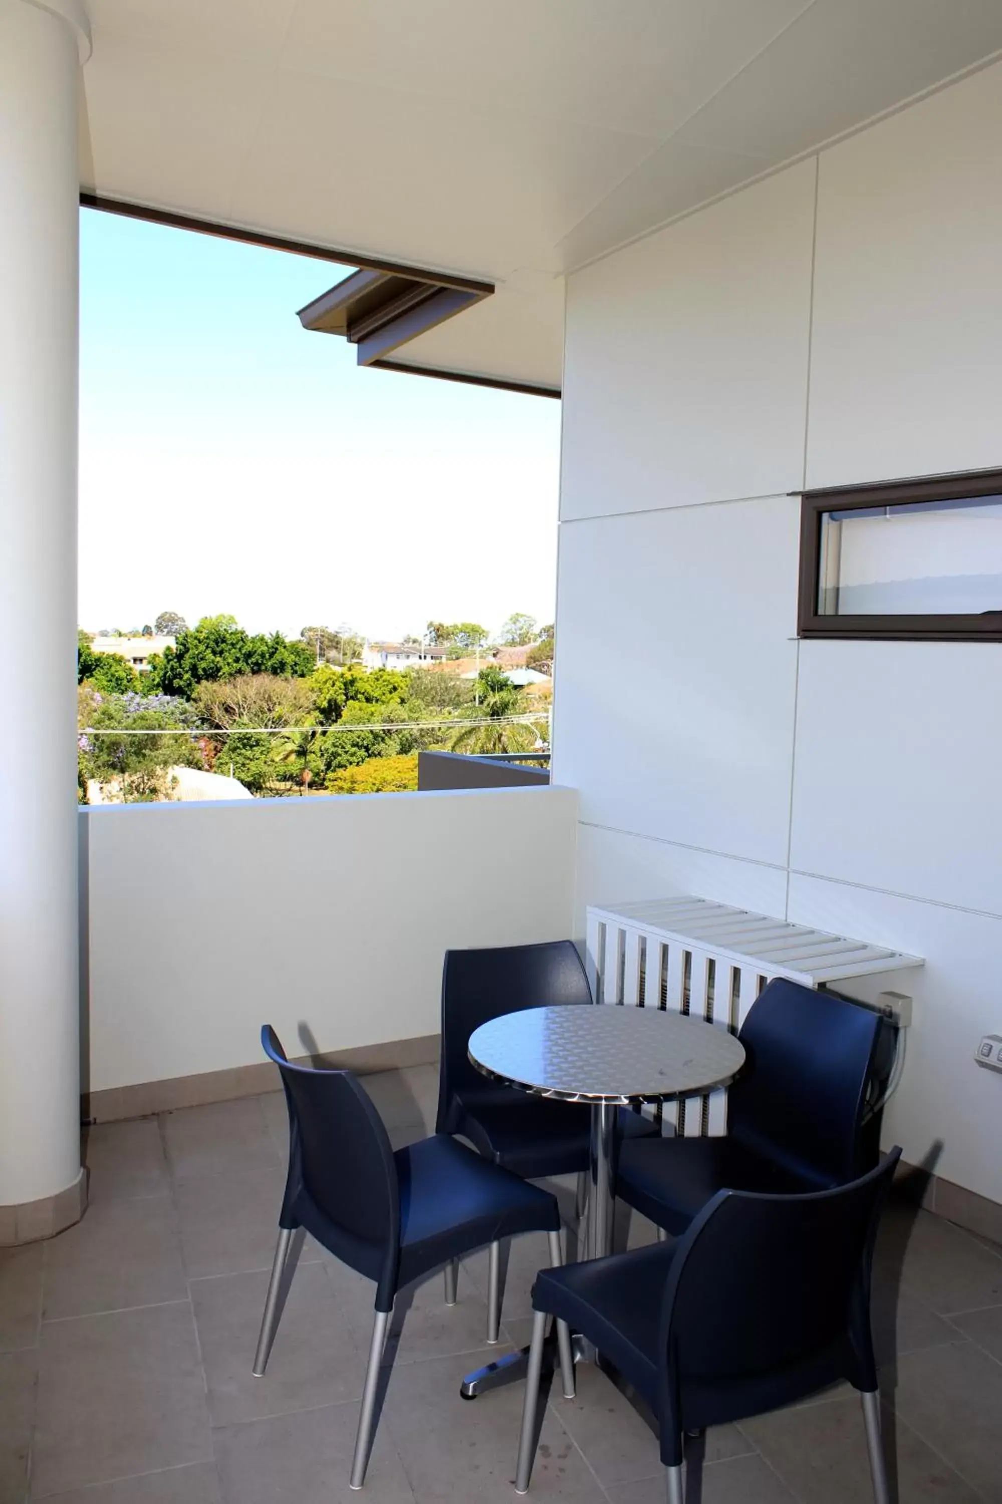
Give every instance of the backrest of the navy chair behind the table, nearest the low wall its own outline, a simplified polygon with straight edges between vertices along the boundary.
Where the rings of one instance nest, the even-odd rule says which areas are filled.
[[[475,1096],[490,1090],[467,1056],[475,1029],[520,1008],[590,1002],[592,990],[572,940],[446,951],[437,1133],[455,1131],[451,1107],[457,1092]]]

